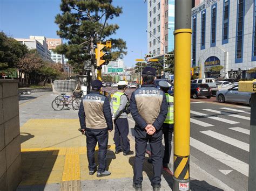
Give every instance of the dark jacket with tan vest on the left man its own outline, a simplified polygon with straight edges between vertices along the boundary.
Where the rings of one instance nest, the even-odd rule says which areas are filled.
[[[83,97],[78,116],[82,129],[113,130],[109,100],[97,91]]]

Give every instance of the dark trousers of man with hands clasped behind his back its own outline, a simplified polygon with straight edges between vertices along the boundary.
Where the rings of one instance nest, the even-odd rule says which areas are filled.
[[[140,129],[138,126],[134,128],[135,136],[135,161],[134,161],[134,183],[142,183],[143,176],[143,163],[145,160],[145,152],[147,147],[147,142],[150,144],[152,153],[152,163],[154,176],[152,179],[153,184],[159,184],[161,182],[162,173],[162,157],[161,157],[161,144],[163,139],[163,131],[159,130],[154,133],[153,136],[147,135],[145,130]]]

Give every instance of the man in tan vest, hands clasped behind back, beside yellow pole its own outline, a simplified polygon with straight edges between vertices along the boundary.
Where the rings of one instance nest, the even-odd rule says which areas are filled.
[[[153,84],[155,75],[154,68],[145,67],[142,72],[142,88],[138,88],[131,95],[130,112],[136,122],[134,127],[136,156],[133,176],[133,187],[136,190],[142,190],[142,171],[147,142],[150,144],[153,160],[153,190],[160,190],[161,187],[163,139],[161,126],[167,115],[167,102],[164,92]]]

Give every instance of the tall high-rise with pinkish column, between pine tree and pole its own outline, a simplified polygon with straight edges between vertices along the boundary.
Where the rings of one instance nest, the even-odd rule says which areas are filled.
[[[175,0],[147,1],[147,52],[163,55],[174,49]]]

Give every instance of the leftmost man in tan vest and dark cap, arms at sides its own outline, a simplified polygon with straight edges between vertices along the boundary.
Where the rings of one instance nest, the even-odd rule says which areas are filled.
[[[109,99],[102,94],[102,81],[94,80],[91,83],[92,91],[83,97],[78,116],[82,133],[86,135],[87,159],[89,162],[89,174],[96,172],[95,147],[98,142],[98,172],[97,177],[107,176],[106,153],[109,133],[113,130],[113,122]]]

